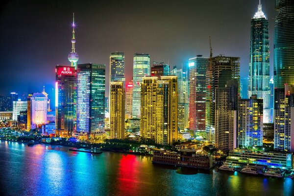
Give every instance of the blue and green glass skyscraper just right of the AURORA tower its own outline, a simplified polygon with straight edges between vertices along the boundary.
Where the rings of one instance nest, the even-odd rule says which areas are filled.
[[[83,138],[104,131],[105,65],[77,66],[76,132]]]

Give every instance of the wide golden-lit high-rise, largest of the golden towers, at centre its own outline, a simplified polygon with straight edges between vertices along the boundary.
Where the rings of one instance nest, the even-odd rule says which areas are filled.
[[[141,90],[142,137],[172,145],[178,139],[177,76],[145,77]]]

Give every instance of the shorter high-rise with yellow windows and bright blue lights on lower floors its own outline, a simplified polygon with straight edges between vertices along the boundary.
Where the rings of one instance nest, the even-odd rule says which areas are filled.
[[[256,147],[263,145],[263,99],[251,98],[238,101],[238,145]]]

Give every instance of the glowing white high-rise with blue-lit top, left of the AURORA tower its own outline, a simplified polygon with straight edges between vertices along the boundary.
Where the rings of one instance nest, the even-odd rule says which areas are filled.
[[[47,101],[48,98],[43,93],[34,93],[31,98],[31,123],[47,123]]]

